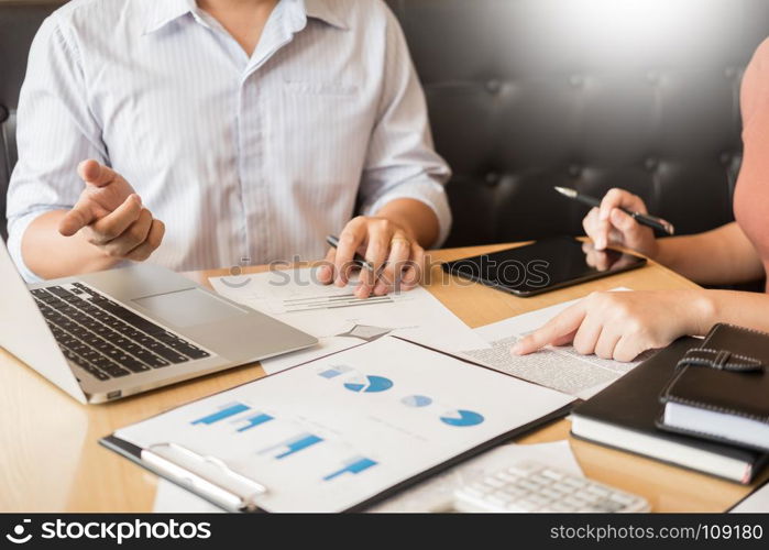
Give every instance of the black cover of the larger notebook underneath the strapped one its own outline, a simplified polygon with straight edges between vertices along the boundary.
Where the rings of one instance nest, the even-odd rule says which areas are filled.
[[[752,466],[750,475],[752,477],[760,465],[766,462],[765,454],[690,436],[662,431],[656,426],[663,407],[660,403],[660,393],[673,376],[675,364],[689,349],[699,346],[701,343],[702,340],[693,338],[680,339],[673,342],[670,346],[639,364],[606,389],[576,407],[574,416],[745,462]],[[579,433],[573,435],[578,438],[587,439]],[[601,441],[597,442],[605,444]],[[649,453],[645,454],[652,459],[674,462],[668,458],[656,457],[652,452],[653,449],[649,449]],[[688,466],[688,464],[683,463],[678,464]],[[749,482],[749,480],[740,481],[743,483]]]

